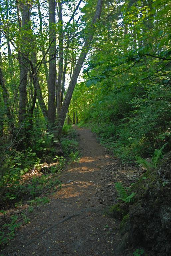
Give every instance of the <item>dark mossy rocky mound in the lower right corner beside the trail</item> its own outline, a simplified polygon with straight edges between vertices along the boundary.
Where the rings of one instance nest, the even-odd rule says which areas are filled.
[[[148,172],[147,179],[140,179],[132,190],[135,200],[129,210],[122,215],[120,224],[121,242],[116,252],[131,246],[144,247],[150,256],[170,256],[171,252],[171,152],[165,156],[160,166]],[[124,207],[122,206],[124,209]],[[122,213],[116,205],[113,212]],[[122,248],[123,247],[123,248]]]

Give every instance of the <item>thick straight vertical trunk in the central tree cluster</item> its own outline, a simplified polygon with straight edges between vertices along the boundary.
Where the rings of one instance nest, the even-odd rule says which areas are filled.
[[[55,122],[55,79],[56,79],[56,21],[55,0],[49,0],[49,80],[48,80],[48,121]]]

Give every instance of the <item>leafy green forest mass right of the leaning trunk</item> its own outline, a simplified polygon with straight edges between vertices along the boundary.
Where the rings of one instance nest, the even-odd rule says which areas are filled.
[[[86,84],[76,85],[70,115],[77,111],[106,148],[131,161],[170,141],[170,6],[158,1],[112,6],[106,6],[109,14],[114,9],[92,44]]]

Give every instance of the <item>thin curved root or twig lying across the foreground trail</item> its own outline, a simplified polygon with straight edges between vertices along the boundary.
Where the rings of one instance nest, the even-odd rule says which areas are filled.
[[[104,211],[104,209],[106,209],[107,207],[104,207],[104,208],[85,208],[85,209],[82,209],[72,215],[68,215],[66,216],[63,220],[60,220],[58,223],[50,226],[49,228],[47,228],[46,230],[44,230],[43,232],[41,232],[39,235],[35,236],[33,239],[31,239],[28,243],[25,244],[25,246],[28,246],[30,244],[32,244],[33,242],[35,242],[35,240],[37,240],[39,237],[41,237],[42,235],[44,235],[45,233],[47,233],[49,230],[55,228],[57,225],[73,218],[73,217],[76,217],[76,216],[79,216],[80,214],[83,214],[85,212],[100,212],[100,211]]]

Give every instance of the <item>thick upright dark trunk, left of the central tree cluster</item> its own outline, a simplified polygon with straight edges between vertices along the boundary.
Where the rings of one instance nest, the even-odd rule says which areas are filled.
[[[31,6],[29,1],[22,3],[22,33],[21,33],[21,55],[20,61],[20,87],[19,87],[19,122],[22,123],[26,118],[26,102],[27,102],[27,73],[29,55],[29,22],[30,22]]]

